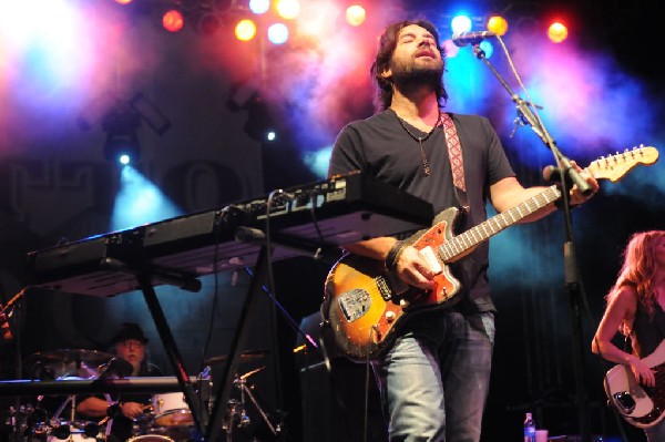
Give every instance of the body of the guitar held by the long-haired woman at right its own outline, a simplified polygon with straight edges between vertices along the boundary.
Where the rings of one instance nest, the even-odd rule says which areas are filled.
[[[626,366],[614,366],[605,374],[610,402],[637,428],[651,428],[665,418],[665,341],[643,361],[655,371],[656,387],[642,387]]]

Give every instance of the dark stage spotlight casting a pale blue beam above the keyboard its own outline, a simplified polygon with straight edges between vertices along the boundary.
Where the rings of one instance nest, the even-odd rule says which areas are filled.
[[[104,156],[109,161],[129,164],[139,160],[141,146],[136,129],[141,125],[141,115],[126,105],[113,107],[102,120],[102,129],[106,132]]]

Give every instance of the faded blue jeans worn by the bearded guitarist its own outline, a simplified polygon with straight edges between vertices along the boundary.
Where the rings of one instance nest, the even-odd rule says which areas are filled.
[[[494,315],[413,317],[374,370],[391,442],[478,442],[490,387]]]

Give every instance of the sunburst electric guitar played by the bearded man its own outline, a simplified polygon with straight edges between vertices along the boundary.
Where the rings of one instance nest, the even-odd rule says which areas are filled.
[[[594,161],[586,168],[595,178],[618,181],[638,164],[658,158],[655,147],[635,147]],[[432,270],[434,288],[420,290],[407,286],[386,271],[383,263],[347,254],[330,269],[325,282],[321,311],[334,330],[335,342],[349,359],[374,359],[383,351],[406,316],[434,306],[450,307],[457,301],[460,282],[448,264],[471,253],[480,243],[559,199],[557,185],[454,236],[459,210],[439,213],[432,226],[407,241],[420,250]]]

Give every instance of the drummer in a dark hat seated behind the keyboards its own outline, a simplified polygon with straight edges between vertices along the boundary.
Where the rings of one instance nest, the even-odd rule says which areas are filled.
[[[147,341],[137,323],[124,322],[110,342],[117,359],[112,359],[102,367],[100,377],[163,376],[155,364],[147,361]],[[151,399],[151,394],[145,393],[86,395],[78,399],[76,413],[84,419],[98,421],[109,418],[109,442],[122,442],[135,435],[134,421],[144,418],[150,411]]]

